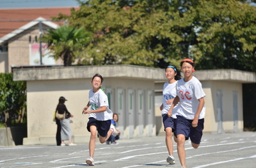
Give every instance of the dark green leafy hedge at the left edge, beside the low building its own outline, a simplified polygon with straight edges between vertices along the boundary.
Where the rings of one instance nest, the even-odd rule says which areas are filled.
[[[12,73],[0,73],[1,123],[26,123],[26,81],[13,81]]]

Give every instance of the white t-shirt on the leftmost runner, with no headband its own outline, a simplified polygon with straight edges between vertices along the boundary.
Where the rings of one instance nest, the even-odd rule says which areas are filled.
[[[100,113],[90,113],[88,116],[95,118],[99,121],[106,121],[113,119],[113,112],[108,108],[108,97],[107,95],[100,89],[98,92],[93,93],[93,90],[89,92],[89,101],[91,110],[99,109],[102,106],[107,106],[107,110]]]

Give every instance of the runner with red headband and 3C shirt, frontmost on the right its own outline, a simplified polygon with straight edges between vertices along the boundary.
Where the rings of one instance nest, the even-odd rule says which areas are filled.
[[[190,138],[193,148],[198,148],[202,139],[205,117],[205,93],[200,81],[192,74],[195,71],[193,60],[182,60],[180,67],[184,78],[177,82],[177,96],[168,111],[168,116],[172,116],[173,107],[179,102],[174,133],[177,137],[177,151],[180,164],[183,168],[186,168],[185,141]]]

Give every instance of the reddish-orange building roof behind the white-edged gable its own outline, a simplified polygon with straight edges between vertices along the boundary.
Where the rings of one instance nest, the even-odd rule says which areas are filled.
[[[59,13],[70,15],[71,8],[72,7],[0,9],[0,38],[20,29],[20,27],[39,17],[54,22],[51,20],[51,17],[58,17]],[[74,9],[78,10],[79,7]],[[63,21],[54,23],[60,25],[63,24]]]

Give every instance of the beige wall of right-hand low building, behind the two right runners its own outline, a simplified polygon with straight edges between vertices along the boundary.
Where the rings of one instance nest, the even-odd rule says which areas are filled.
[[[234,115],[233,115],[233,91],[236,90],[238,95],[238,129],[243,131],[243,87],[242,83],[234,81],[201,81],[205,96],[205,123],[204,132],[218,132],[217,118],[217,90],[223,93],[223,132],[234,132]],[[161,90],[163,83],[156,83],[155,90]],[[163,87],[162,87],[163,90]],[[164,127],[161,111],[158,106],[155,107],[156,130],[159,135],[164,135]]]

